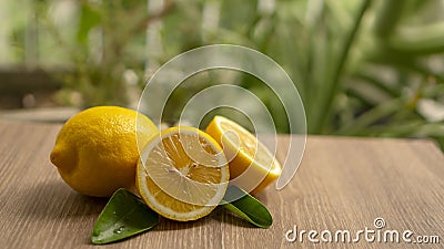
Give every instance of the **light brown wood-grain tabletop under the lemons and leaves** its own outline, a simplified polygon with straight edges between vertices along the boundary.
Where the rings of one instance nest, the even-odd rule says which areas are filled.
[[[145,234],[94,246],[90,235],[107,200],[81,196],[59,177],[49,162],[59,128],[0,122],[0,248],[444,248],[444,156],[432,142],[317,136],[309,137],[289,186],[258,195],[274,218],[269,229],[216,209],[192,222],[161,219]],[[376,218],[384,228],[376,229]],[[411,230],[413,240],[440,242],[367,242],[361,236],[359,242],[314,243],[306,235],[289,242],[294,226],[333,236]]]

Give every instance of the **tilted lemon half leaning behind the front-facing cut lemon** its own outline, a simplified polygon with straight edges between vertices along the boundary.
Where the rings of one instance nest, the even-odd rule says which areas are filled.
[[[230,162],[230,177],[238,187],[255,194],[280,176],[281,165],[275,157],[238,123],[223,116],[214,116],[206,133],[223,147]]]

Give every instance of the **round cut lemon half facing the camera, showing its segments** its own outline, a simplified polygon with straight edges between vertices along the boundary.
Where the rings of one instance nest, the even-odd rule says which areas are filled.
[[[230,170],[222,148],[204,132],[171,127],[141,152],[137,187],[147,205],[163,217],[195,220],[222,200]]]

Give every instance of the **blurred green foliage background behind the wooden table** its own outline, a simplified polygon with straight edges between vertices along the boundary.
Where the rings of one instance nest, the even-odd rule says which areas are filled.
[[[240,44],[289,73],[310,134],[431,137],[444,147],[443,12],[442,0],[7,0],[0,65],[50,72],[63,83],[60,104],[134,106],[173,56]],[[174,103],[219,77],[198,75]],[[230,81],[287,132],[266,87],[250,75]]]

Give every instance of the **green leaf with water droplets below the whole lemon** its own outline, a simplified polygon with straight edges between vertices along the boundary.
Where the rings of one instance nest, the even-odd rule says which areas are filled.
[[[93,243],[114,242],[149,230],[159,215],[124,188],[117,190],[99,216],[92,231]]]

